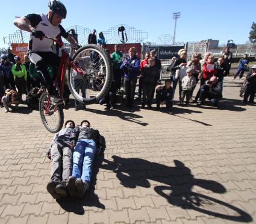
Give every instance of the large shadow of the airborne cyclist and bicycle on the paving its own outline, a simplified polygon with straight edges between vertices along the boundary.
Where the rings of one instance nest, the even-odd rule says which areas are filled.
[[[196,179],[191,170],[181,161],[174,160],[174,167],[152,163],[140,158],[113,156],[113,161],[104,160],[101,169],[113,170],[124,187],[137,186],[149,188],[149,179],[157,181],[154,190],[175,206],[196,210],[214,217],[236,222],[251,222],[252,217],[240,208],[210,196],[193,192],[193,186],[205,188],[214,193],[225,193],[226,189],[216,181]],[[169,193],[170,192],[170,193]],[[170,208],[171,209],[171,208]],[[231,212],[229,212],[231,211]]]

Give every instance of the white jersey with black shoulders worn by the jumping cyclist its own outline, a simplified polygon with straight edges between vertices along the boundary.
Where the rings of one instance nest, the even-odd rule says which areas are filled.
[[[53,26],[48,20],[45,14],[28,14],[25,16],[30,20],[31,26],[36,30],[43,31],[45,36],[55,39],[59,34],[64,38],[67,38],[68,34],[61,25]],[[36,38],[30,34],[30,44],[28,46],[28,51],[33,52],[52,52],[52,40]]]

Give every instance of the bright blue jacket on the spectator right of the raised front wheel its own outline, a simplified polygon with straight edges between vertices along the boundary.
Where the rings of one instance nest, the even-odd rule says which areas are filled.
[[[127,64],[125,64],[127,61]],[[122,65],[120,66],[125,73],[125,77],[134,78],[140,73],[140,58],[134,56],[133,58],[125,58]]]

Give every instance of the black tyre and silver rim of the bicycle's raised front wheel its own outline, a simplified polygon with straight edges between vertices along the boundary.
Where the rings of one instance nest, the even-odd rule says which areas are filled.
[[[73,55],[73,58],[72,58],[73,63],[77,63],[78,60],[83,58],[83,57],[81,57],[81,55],[86,55],[86,52],[87,52],[87,56],[85,56],[85,57],[89,57],[88,52],[92,52],[92,51],[95,51],[97,54],[100,55],[100,57],[102,58],[102,61],[104,61],[105,71],[106,71],[105,74],[104,74],[105,82],[102,86],[102,89],[99,90],[98,93],[96,93],[96,95],[87,96],[87,93],[86,93],[86,97],[84,97],[83,95],[80,96],[80,94],[81,94],[80,90],[81,89],[78,87],[78,90],[76,90],[77,87],[75,87],[75,84],[74,84],[75,81],[73,81],[73,69],[72,69],[72,67],[69,68],[69,72],[67,73],[67,84],[69,86],[69,90],[72,93],[73,97],[77,101],[79,101],[81,103],[86,103],[86,104],[92,104],[93,102],[96,102],[99,99],[102,99],[107,94],[108,90],[110,89],[111,82],[112,82],[112,79],[113,79],[113,66],[111,64],[110,55],[107,55],[106,52],[105,52],[105,49],[101,48],[100,46],[86,45],[86,46],[83,46],[82,48],[78,49],[78,51]],[[86,62],[84,62],[84,66],[86,66]],[[90,66],[90,68],[92,68],[92,65]],[[83,69],[81,67],[79,67],[79,69],[86,70],[86,69]],[[83,78],[81,78],[81,77],[83,77]],[[81,82],[80,86],[82,86],[82,85],[86,86],[87,85],[86,82],[89,83],[88,79],[90,78],[90,76],[80,75],[80,78],[81,78],[81,81],[79,81],[79,82]],[[86,89],[86,87],[85,87],[85,89]],[[86,90],[85,89],[81,90],[81,92],[86,92],[86,90],[89,90],[89,89],[86,89]]]

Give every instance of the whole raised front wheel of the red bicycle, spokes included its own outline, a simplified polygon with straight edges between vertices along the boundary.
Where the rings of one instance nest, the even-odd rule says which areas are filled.
[[[67,74],[69,90],[79,102],[92,104],[103,98],[110,89],[113,69],[109,54],[97,45],[87,45],[73,55],[73,64],[84,75],[70,67]]]

